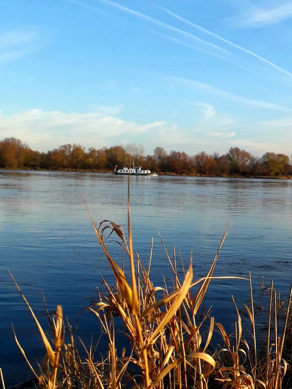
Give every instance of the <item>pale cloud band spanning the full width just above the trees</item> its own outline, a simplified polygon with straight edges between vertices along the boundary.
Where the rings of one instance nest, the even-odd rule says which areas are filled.
[[[225,154],[231,146],[259,156],[267,151],[290,155],[292,150],[292,116],[248,125],[216,114],[192,127],[183,127],[164,121],[139,124],[109,114],[119,109],[122,106],[102,106],[87,113],[41,109],[16,115],[0,113],[0,140],[16,137],[33,150],[45,152],[66,143],[79,143],[86,148],[136,143],[145,147],[146,154],[162,145],[167,151],[185,151],[190,156],[203,150]]]

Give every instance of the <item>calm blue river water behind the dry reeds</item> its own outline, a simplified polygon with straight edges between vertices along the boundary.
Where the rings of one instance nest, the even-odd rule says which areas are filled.
[[[85,201],[96,224],[107,219],[127,231],[128,177],[95,173],[0,171],[0,368],[6,386],[32,377],[15,344],[18,339],[34,364],[45,354],[27,307],[12,283],[19,283],[40,321],[62,304],[71,324],[89,304],[101,274],[112,281],[98,245]],[[247,277],[288,295],[292,282],[292,180],[131,177],[131,224],[134,250],[144,263],[154,238],[152,278],[156,285],[171,271],[162,247],[173,246],[187,265],[193,252],[194,278],[204,276],[221,236],[232,223],[222,247],[216,276]],[[109,240],[117,261],[118,245]],[[126,269],[127,269],[127,263]],[[206,296],[217,321],[233,332],[235,310],[248,301],[249,285],[214,280]],[[97,322],[81,311],[78,334],[96,332]]]

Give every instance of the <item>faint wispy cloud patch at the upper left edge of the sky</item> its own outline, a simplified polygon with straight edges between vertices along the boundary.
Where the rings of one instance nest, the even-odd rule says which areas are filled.
[[[35,29],[7,31],[0,35],[0,62],[12,61],[40,49]]]

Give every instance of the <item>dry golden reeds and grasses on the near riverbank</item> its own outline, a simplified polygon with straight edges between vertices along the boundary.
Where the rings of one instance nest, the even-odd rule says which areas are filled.
[[[97,290],[96,300],[87,308],[99,323],[107,344],[105,350],[101,350],[98,341],[94,343],[91,340],[90,345],[85,345],[82,339],[75,339],[72,326],[65,324],[59,305],[53,316],[47,311],[51,330],[49,336],[11,275],[45,346],[46,356],[43,364],[38,365],[39,371],[29,364],[39,388],[291,388],[292,288],[285,304],[279,301],[273,282],[265,288],[269,295],[269,307],[265,342],[261,345],[257,340],[251,275],[247,278],[219,277],[246,282],[250,305],[242,304],[244,315],[249,318],[249,328],[243,328],[242,310],[233,297],[236,316],[233,334],[227,334],[223,325],[212,316],[211,310],[202,309],[208,286],[217,278],[213,275],[214,269],[230,227],[223,234],[208,273],[200,280],[193,279],[192,254],[185,267],[175,248],[169,254],[162,241],[173,279],[162,280],[162,286],[157,286],[152,283],[150,274],[153,241],[147,264],[142,264],[139,254],[133,252],[129,195],[128,240],[122,226],[109,220],[103,220],[96,226],[91,214],[90,218],[114,276],[111,285],[102,278],[106,292],[102,294]],[[112,259],[109,241],[116,242],[123,249],[125,258],[120,259],[121,265]],[[126,261],[128,273],[124,270]],[[283,312],[282,323],[279,317]],[[244,338],[246,331],[250,332],[250,340]],[[215,333],[221,339],[219,347],[213,344]],[[121,334],[128,344],[122,350],[118,345]],[[26,358],[19,343],[18,347]]]

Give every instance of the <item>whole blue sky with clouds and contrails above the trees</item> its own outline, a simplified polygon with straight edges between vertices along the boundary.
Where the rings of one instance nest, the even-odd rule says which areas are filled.
[[[292,1],[3,0],[0,139],[292,154]]]

